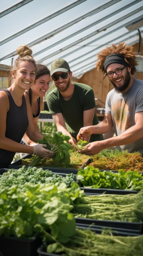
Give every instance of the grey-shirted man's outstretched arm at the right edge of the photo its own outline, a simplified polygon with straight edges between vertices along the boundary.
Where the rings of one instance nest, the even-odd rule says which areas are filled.
[[[130,144],[143,137],[143,112],[135,114],[135,125],[128,128],[121,135],[89,143],[84,150],[79,151],[86,155],[95,155],[104,148]]]

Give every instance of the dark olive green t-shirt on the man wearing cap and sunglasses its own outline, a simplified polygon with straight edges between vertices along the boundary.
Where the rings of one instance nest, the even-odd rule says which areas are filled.
[[[47,105],[51,114],[62,113],[68,132],[76,139],[80,128],[84,126],[83,112],[95,108],[95,95],[92,88],[83,83],[74,83],[72,97],[65,100],[55,88],[47,95]],[[92,124],[98,124],[95,113]],[[99,134],[91,135],[90,142],[102,140]]]

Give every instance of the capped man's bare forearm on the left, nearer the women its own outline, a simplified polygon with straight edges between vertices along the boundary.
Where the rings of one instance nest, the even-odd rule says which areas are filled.
[[[71,145],[76,144],[76,140],[71,136],[70,132],[68,132],[68,130],[66,129],[66,124],[62,113],[54,114],[52,115],[52,117],[57,126],[57,131],[70,136],[71,139],[69,139],[68,143],[70,143]]]

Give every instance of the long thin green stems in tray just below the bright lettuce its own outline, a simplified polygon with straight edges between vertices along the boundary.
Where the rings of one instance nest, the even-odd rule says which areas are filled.
[[[143,222],[143,190],[128,195],[89,195],[79,197],[72,210],[75,217],[98,220]]]

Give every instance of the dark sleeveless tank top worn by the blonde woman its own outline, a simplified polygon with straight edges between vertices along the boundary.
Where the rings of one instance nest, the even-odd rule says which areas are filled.
[[[20,143],[29,125],[25,97],[24,95],[22,96],[22,105],[18,107],[15,104],[9,90],[2,89],[2,91],[6,92],[9,97],[9,111],[7,112],[5,136]],[[11,164],[13,160],[14,155],[15,152],[0,148],[0,168],[8,168],[9,164]]]

